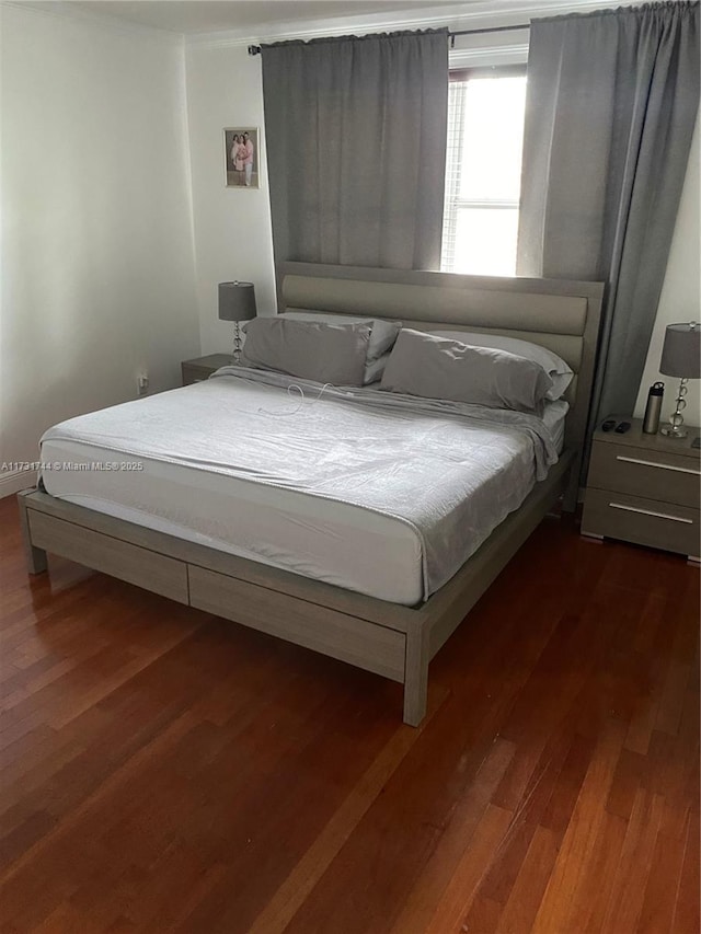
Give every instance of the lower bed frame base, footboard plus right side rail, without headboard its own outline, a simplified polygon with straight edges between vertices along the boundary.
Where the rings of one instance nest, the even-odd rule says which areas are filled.
[[[415,608],[226,554],[37,489],[18,499],[30,574],[46,570],[50,552],[381,674],[404,685],[404,723],[418,726],[426,714],[430,659],[552,508],[571,464],[572,457],[563,456],[455,577]]]

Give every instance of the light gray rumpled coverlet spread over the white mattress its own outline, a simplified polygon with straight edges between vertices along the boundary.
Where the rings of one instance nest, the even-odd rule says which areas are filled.
[[[288,392],[290,384],[303,399]],[[532,415],[376,389],[321,392],[317,383],[234,367],[206,383],[64,422],[42,440],[49,439],[392,516],[422,543],[425,596],[455,574],[556,460],[548,428]]]

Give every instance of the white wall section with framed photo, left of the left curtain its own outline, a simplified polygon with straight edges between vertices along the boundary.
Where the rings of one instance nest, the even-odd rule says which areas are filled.
[[[217,316],[218,282],[253,282],[258,314],[275,313],[261,58],[245,46],[194,47],[186,67],[202,347],[226,353],[233,325]],[[260,189],[226,187],[225,127],[261,128]]]

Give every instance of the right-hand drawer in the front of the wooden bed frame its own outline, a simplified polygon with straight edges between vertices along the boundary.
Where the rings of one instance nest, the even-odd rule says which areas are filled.
[[[280,613],[271,591],[204,567],[188,566],[189,602],[215,613],[321,652],[392,681],[404,681],[406,638],[403,633],[347,616],[295,597]]]

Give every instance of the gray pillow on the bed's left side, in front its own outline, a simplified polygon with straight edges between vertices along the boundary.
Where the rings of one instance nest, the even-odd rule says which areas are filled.
[[[254,318],[244,330],[244,367],[334,385],[363,385],[369,324]]]

